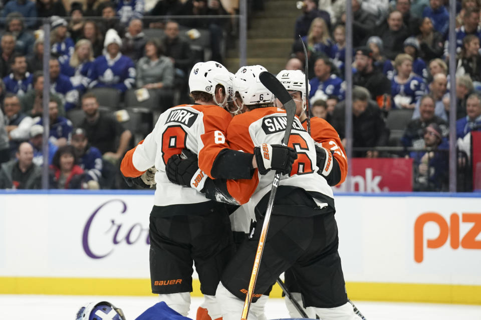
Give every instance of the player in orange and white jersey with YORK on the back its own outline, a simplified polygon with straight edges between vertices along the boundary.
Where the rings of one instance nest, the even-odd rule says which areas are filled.
[[[232,117],[219,105],[226,103],[230,73],[220,63],[199,62],[191,70],[189,87],[195,104],[178,105],[163,112],[153,131],[126,153],[121,171],[125,176],[137,177],[152,166],[159,170],[154,181],[144,178],[147,184],[156,183],[150,213],[152,292],[180,314],[187,315],[193,260],[204,306],[208,315],[216,319],[221,314],[214,294],[220,274],[233,253],[228,213],[222,203],[205,198],[193,188],[171,183],[164,171],[167,160],[173,155],[178,158],[182,149],[188,148],[195,154],[201,151],[201,161],[228,148],[224,132]],[[224,157],[229,163],[222,168],[240,161],[244,164],[238,166],[247,168],[237,170],[238,177],[249,178],[252,175],[249,167],[255,166],[253,154],[240,153],[234,158]]]

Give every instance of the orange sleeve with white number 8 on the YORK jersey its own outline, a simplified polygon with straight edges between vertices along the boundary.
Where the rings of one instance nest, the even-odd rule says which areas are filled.
[[[232,115],[218,105],[192,105],[203,113],[204,133],[200,135],[199,168],[212,178],[211,169],[217,154],[229,144],[225,138]]]

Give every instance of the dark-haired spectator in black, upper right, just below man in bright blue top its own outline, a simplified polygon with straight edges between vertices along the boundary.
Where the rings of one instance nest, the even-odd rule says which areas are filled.
[[[424,61],[429,61],[442,56],[444,49],[443,35],[434,31],[431,18],[422,18],[416,36],[419,41],[419,55]]]

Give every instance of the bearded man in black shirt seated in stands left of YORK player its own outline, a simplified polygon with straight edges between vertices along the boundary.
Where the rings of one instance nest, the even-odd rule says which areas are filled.
[[[87,138],[103,154],[104,159],[117,162],[127,150],[132,133],[122,127],[113,116],[100,112],[95,95],[85,93],[82,96],[82,110],[85,120],[81,127],[87,132]],[[115,147],[116,140],[118,147]]]

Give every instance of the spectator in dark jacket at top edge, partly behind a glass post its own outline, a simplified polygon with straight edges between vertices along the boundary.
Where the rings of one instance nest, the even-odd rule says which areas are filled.
[[[376,16],[361,7],[362,0],[352,0],[352,45],[354,47],[364,45],[366,39],[376,26]],[[341,16],[341,22],[346,23],[346,13]]]

